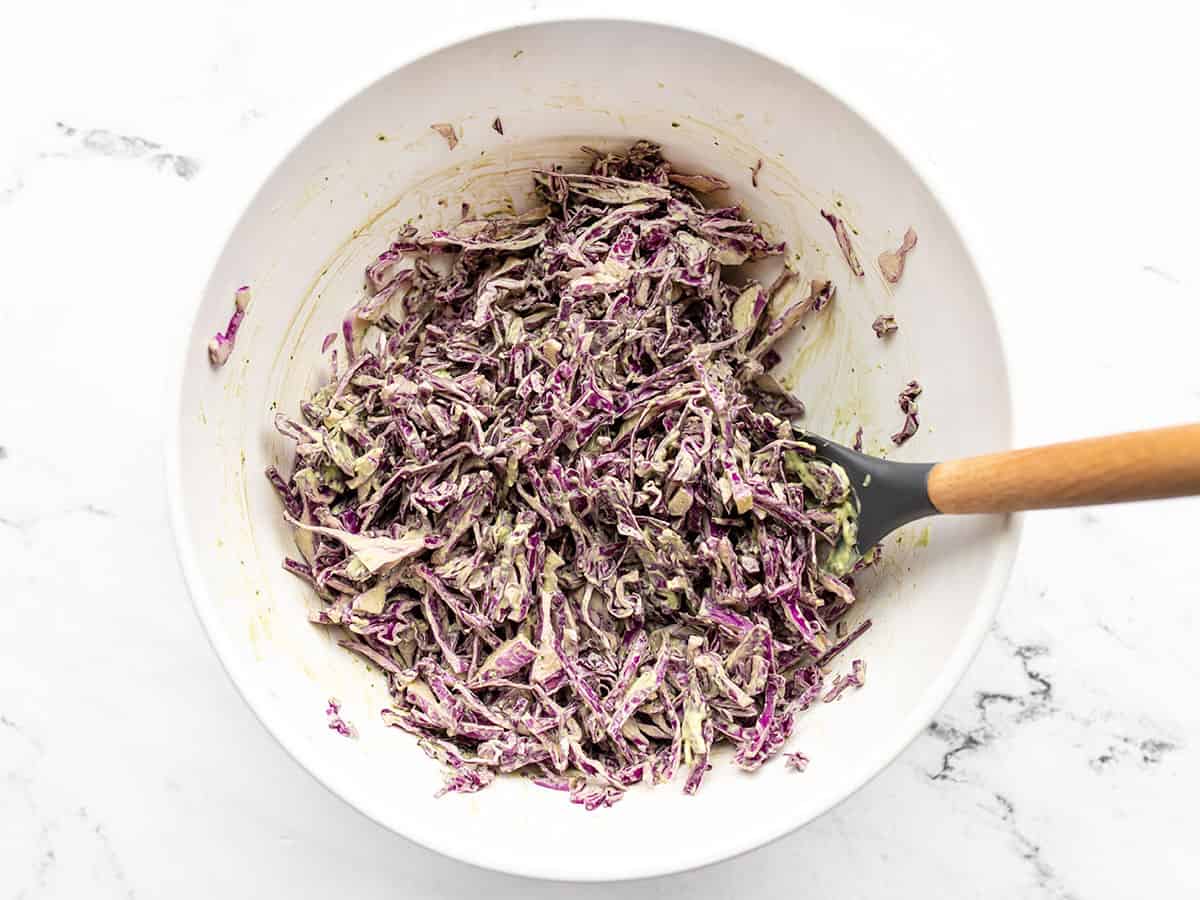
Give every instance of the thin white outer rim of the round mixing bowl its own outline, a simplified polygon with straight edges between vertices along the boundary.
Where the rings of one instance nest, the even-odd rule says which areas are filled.
[[[407,68],[414,62],[418,62],[427,56],[484,37],[545,26],[552,28],[557,25],[588,24],[598,26],[646,26],[683,32],[690,37],[701,37],[722,42],[736,50],[752,54],[763,60],[782,66],[800,78],[808,80],[815,88],[844,106],[848,113],[857,116],[870,131],[875,132],[883,144],[892,152],[894,152],[905,166],[908,167],[918,184],[920,184],[922,187],[929,192],[935,206],[942,212],[942,215],[946,216],[947,222],[949,222],[950,227],[962,242],[966,262],[971,272],[978,278],[979,284],[983,288],[985,311],[998,338],[1000,374],[1002,377],[1004,389],[1003,406],[1006,407],[1008,418],[1008,433],[1004,440],[1008,445],[1012,445],[1015,416],[1013,408],[1009,344],[1004,337],[1002,323],[996,316],[996,306],[992,300],[992,292],[989,288],[988,278],[979,268],[974,254],[971,252],[971,241],[968,240],[966,229],[962,226],[962,218],[954,215],[949,209],[950,204],[947,200],[947,191],[938,190],[938,187],[935,186],[936,179],[930,176],[926,168],[917,164],[917,162],[914,162],[914,160],[898,145],[896,139],[883,131],[883,128],[876,125],[875,121],[864,115],[841,94],[830,89],[821,78],[805,71],[798,64],[787,59],[781,59],[764,49],[761,49],[755,43],[745,40],[744,36],[734,38],[704,29],[679,25],[676,22],[658,18],[653,14],[620,17],[581,14],[556,16],[553,18],[540,18],[536,16],[521,17],[511,24],[500,28],[485,28],[482,30],[472,28],[456,29],[450,37],[418,43],[409,53],[404,54],[400,62],[392,62],[385,71],[371,79],[367,84],[349,91],[337,102],[330,104],[329,108],[310,126],[301,128],[299,133],[293,130],[288,130],[287,134],[282,137],[282,148],[276,146],[275,143],[271,144],[271,149],[264,154],[266,158],[269,158],[270,164],[250,167],[256,187],[248,193],[248,198],[245,203],[238,204],[236,200],[234,200],[230,205],[234,210],[236,210],[236,212],[233,216],[226,216],[222,220],[222,228],[217,232],[221,236],[216,239],[216,247],[209,252],[208,263],[202,270],[204,272],[203,288],[194,301],[192,314],[190,317],[181,317],[180,334],[175,338],[175,342],[172,343],[172,347],[176,350],[174,359],[180,361],[178,365],[173,366],[167,379],[163,454],[168,517],[175,545],[175,554],[179,562],[180,571],[184,576],[188,596],[192,601],[192,608],[200,622],[209,644],[216,653],[226,676],[229,678],[229,682],[233,684],[236,692],[241,696],[251,713],[253,713],[254,718],[258,719],[268,733],[271,734],[280,746],[282,746],[283,750],[295,762],[298,762],[305,772],[308,773],[308,775],[311,775],[319,785],[337,797],[352,810],[359,812],[382,828],[451,859],[468,863],[481,869],[529,878],[565,882],[618,882],[674,875],[728,859],[734,859],[749,853],[752,850],[773,844],[774,841],[826,815],[835,806],[845,803],[869,782],[875,780],[875,778],[877,778],[884,769],[887,769],[896,760],[896,757],[899,757],[900,754],[902,754],[913,743],[913,740],[917,739],[917,737],[926,728],[928,724],[936,716],[937,712],[949,700],[950,694],[966,674],[967,668],[982,648],[1008,588],[1016,558],[1018,546],[1024,530],[1024,516],[1016,514],[1006,517],[1006,528],[995,539],[995,553],[989,566],[985,586],[979,594],[974,614],[964,628],[962,634],[959,637],[958,646],[947,658],[941,672],[925,689],[924,702],[910,710],[907,716],[901,720],[900,725],[893,728],[888,740],[880,743],[875,752],[871,754],[860,766],[860,772],[854,780],[854,784],[840,798],[822,804],[815,811],[810,810],[804,815],[797,815],[793,820],[781,827],[772,824],[760,830],[751,830],[749,833],[730,833],[730,840],[725,848],[715,853],[689,851],[688,846],[683,845],[677,852],[672,853],[670,858],[664,858],[662,862],[646,863],[631,868],[619,864],[618,860],[599,856],[588,868],[581,869],[578,866],[560,866],[553,859],[538,857],[535,854],[522,858],[498,858],[496,854],[491,853],[487,847],[472,847],[452,840],[439,840],[422,834],[419,829],[403,829],[390,821],[386,809],[373,808],[372,804],[361,802],[361,799],[349,799],[354,792],[344,790],[344,785],[342,784],[343,776],[336,768],[324,764],[322,762],[323,757],[314,750],[306,748],[299,742],[289,740],[284,736],[282,728],[272,726],[275,715],[268,712],[270,709],[270,702],[266,692],[254,688],[253,677],[247,671],[246,666],[239,662],[239,658],[234,654],[230,642],[217,628],[215,622],[211,611],[212,601],[204,584],[202,570],[193,551],[196,540],[188,528],[186,516],[184,515],[185,494],[182,482],[184,473],[181,467],[182,390],[186,373],[188,366],[191,365],[190,360],[192,358],[192,353],[194,352],[190,340],[192,334],[197,330],[200,314],[200,302],[212,287],[211,280],[214,277],[216,263],[229,247],[233,233],[241,224],[241,222],[245,221],[246,216],[250,215],[250,211],[258,203],[265,186],[287,163],[292,154],[312,138],[319,130],[322,130],[326,122],[347,104],[368,90],[372,90],[382,82],[391,78],[401,70]],[[244,158],[241,160],[241,163],[245,163]],[[240,187],[240,185],[238,186]]]

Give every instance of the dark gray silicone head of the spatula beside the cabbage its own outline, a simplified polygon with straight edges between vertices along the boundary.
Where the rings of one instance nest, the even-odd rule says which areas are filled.
[[[858,500],[858,556],[902,524],[937,512],[926,480],[934,463],[889,462],[805,432],[817,456],[841,466]]]

